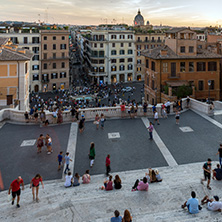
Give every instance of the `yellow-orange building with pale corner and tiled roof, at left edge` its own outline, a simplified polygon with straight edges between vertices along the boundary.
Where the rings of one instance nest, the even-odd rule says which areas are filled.
[[[29,109],[29,66],[33,54],[0,38],[0,107]]]

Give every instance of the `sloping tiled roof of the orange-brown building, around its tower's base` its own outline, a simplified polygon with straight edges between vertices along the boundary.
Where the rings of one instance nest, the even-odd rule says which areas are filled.
[[[161,55],[161,51],[167,51],[166,55]],[[152,50],[145,50],[142,52],[142,55],[152,59],[222,59],[222,56],[213,52],[210,52],[206,49],[198,49],[197,55],[188,56],[188,55],[177,55],[171,48],[167,45],[160,46]]]

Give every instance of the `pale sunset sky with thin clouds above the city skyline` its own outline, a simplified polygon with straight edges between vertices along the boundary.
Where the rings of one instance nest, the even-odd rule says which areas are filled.
[[[0,0],[0,21],[72,25],[133,24],[138,9],[152,25],[222,25],[222,0]]]

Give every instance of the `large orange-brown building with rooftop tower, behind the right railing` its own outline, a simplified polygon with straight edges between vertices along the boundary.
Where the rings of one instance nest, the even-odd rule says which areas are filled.
[[[196,33],[172,29],[165,46],[145,52],[145,99],[151,104],[174,100],[178,87],[192,87],[195,99],[220,99],[220,55],[198,48]],[[167,89],[167,90],[166,90]]]

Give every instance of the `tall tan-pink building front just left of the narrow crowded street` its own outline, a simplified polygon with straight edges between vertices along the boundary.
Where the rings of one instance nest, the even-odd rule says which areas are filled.
[[[69,32],[40,30],[43,92],[69,88]]]

